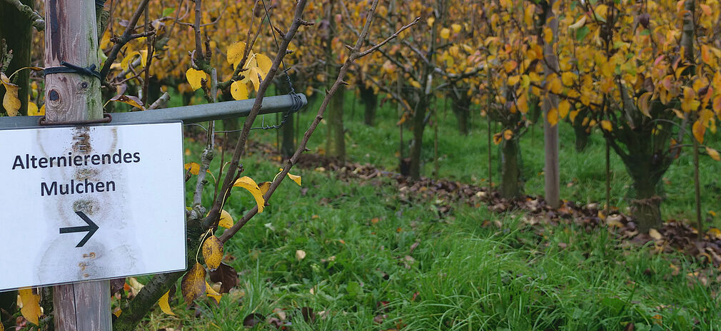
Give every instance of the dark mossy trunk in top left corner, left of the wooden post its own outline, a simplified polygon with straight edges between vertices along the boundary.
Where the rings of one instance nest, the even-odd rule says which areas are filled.
[[[20,0],[23,4],[33,8],[35,1]],[[30,51],[32,50],[32,25],[30,20],[10,4],[0,6],[0,39],[7,43],[7,49],[12,50],[12,61],[7,68],[6,76],[10,76],[17,69],[30,66]],[[30,70],[23,70],[13,77],[13,83],[20,88],[17,97],[20,100],[20,115],[27,115],[27,96],[30,92]],[[5,89],[0,90],[0,100],[5,96]]]

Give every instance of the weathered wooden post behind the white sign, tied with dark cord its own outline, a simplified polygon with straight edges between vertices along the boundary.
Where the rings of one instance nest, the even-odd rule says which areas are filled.
[[[45,22],[46,68],[61,66],[61,61],[99,67],[94,1],[48,0]],[[74,73],[49,74],[45,77],[45,116],[48,123],[102,118],[100,80]],[[110,281],[53,287],[53,310],[57,331],[111,330]]]

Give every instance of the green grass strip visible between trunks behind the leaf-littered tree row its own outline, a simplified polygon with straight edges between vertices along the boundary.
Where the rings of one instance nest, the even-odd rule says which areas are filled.
[[[376,116],[377,125],[368,127],[363,124],[363,104],[355,100],[353,95],[346,94],[345,128],[348,159],[354,162],[376,164],[379,167],[397,171],[399,149],[399,128],[396,126],[397,112],[394,103],[386,102],[380,107]],[[317,107],[316,103],[307,107],[301,113],[301,129],[305,130],[313,120]],[[355,110],[353,110],[355,107]],[[439,168],[437,177],[469,182],[477,185],[487,185],[487,123],[485,118],[479,116],[479,110],[472,110],[471,132],[469,136],[461,136],[456,129],[456,118],[450,110],[446,109],[443,100],[436,102],[435,109],[438,114],[438,150]],[[266,115],[266,122],[275,123],[274,115]],[[257,122],[259,122],[257,120]],[[260,123],[260,122],[259,122]],[[319,125],[314,136],[309,141],[309,149],[318,151],[325,148],[326,125]],[[500,128],[497,128],[500,131]],[[496,131],[492,131],[495,133]],[[404,131],[405,156],[409,151],[412,133]],[[590,136],[588,147],[583,153],[575,151],[575,137],[573,129],[568,123],[561,123],[559,127],[560,150],[559,162],[561,170],[561,198],[579,201],[581,203],[605,202],[606,175],[605,150],[606,145],[600,133]],[[721,149],[721,133],[707,133],[706,143],[716,149]],[[275,143],[275,131],[258,133],[262,141]],[[428,177],[433,176],[433,128],[425,129],[423,139],[423,171]],[[688,140],[687,140],[688,141]],[[521,137],[521,154],[523,158],[523,180],[525,191],[530,195],[544,194],[544,143],[543,128],[534,125]],[[493,159],[493,182],[497,184],[500,158],[497,146],[491,146]],[[713,216],[709,211],[719,212],[717,201],[721,198],[721,179],[717,174],[721,172],[721,162],[716,162],[708,156],[702,155],[700,159],[700,182],[702,185],[702,213],[707,225],[721,226],[720,216]],[[611,206],[625,210],[631,189],[631,179],[627,175],[624,164],[618,156],[611,151]],[[689,219],[695,222],[694,205],[694,167],[691,149],[685,149],[684,154],[673,162],[671,169],[664,176],[663,191],[665,196],[662,203],[662,213],[665,219]]]

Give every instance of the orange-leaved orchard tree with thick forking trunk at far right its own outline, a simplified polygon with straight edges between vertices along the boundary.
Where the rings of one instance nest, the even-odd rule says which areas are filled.
[[[717,1],[581,1],[565,16],[559,71],[538,86],[562,98],[557,116],[600,125],[633,181],[641,231],[661,224],[660,180],[687,127],[703,144],[721,112]],[[536,84],[534,82],[534,84]],[[703,146],[705,147],[705,146]],[[705,151],[715,159],[718,153]]]

